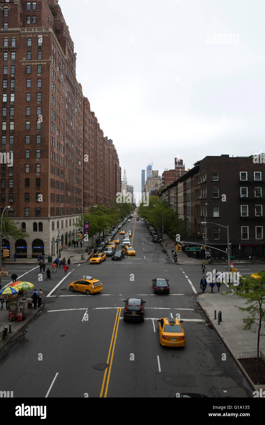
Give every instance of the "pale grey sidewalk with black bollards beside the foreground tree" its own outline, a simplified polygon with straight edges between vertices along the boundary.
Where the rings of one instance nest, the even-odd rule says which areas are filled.
[[[248,381],[254,388],[254,391],[259,391],[259,388],[265,390],[265,385],[254,385],[245,369],[238,362],[239,353],[241,351],[256,351],[257,350],[257,334],[251,331],[242,329],[243,318],[247,314],[240,312],[237,306],[246,306],[245,300],[233,298],[232,294],[222,295],[222,293],[214,292],[213,294],[206,293],[198,295],[197,302],[202,307],[203,312],[208,317],[209,322],[221,337],[225,346],[234,357],[239,365],[239,368],[245,374]],[[214,310],[216,310],[217,319],[214,320]],[[222,312],[222,322],[218,325],[218,312]],[[259,350],[265,354],[265,338],[260,337]]]

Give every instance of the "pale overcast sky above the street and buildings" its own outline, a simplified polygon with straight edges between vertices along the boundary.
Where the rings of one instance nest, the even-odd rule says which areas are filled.
[[[188,169],[265,152],[263,0],[59,4],[77,80],[135,192],[150,158],[161,175],[177,155]]]

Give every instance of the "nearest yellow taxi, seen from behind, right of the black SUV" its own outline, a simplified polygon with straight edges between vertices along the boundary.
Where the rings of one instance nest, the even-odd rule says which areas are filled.
[[[170,313],[168,317],[158,319],[159,342],[162,346],[185,347],[185,332],[182,320],[174,319]]]

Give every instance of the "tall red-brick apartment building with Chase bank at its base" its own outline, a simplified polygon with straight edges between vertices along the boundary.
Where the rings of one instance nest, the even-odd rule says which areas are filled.
[[[1,212],[10,205],[9,216],[29,234],[2,246],[18,257],[54,255],[58,235],[62,245],[77,238],[86,207],[109,205],[119,160],[77,82],[57,0],[0,1],[0,9],[1,142],[2,153],[13,154],[11,167],[1,164]]]

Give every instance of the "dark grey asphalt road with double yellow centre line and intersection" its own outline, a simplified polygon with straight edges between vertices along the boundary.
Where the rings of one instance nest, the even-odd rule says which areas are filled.
[[[228,350],[198,311],[200,267],[172,263],[160,244],[152,242],[144,222],[133,219],[125,229],[134,231],[135,257],[73,264],[66,278],[57,269],[51,281],[43,282],[38,281],[37,265],[6,267],[10,274],[15,267],[17,275],[26,273],[24,279],[42,288],[45,297],[42,311],[0,351],[1,381],[7,382],[1,390],[14,391],[14,397],[174,397],[184,391],[253,397]],[[103,291],[71,293],[69,283],[83,275],[100,279]],[[155,277],[169,279],[170,295],[153,294]],[[146,301],[145,321],[123,322],[123,300],[135,296]],[[157,319],[170,312],[184,321],[185,348],[160,346]]]

